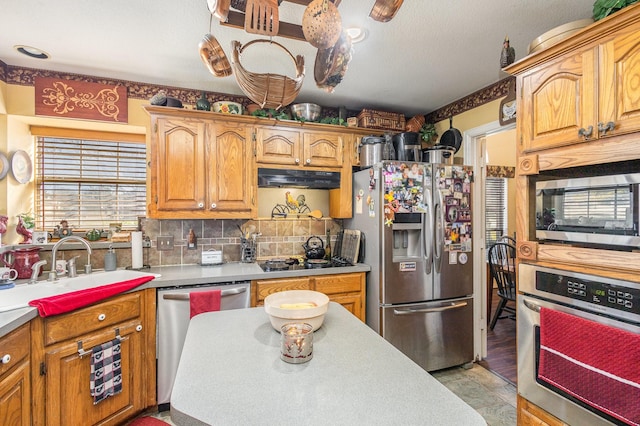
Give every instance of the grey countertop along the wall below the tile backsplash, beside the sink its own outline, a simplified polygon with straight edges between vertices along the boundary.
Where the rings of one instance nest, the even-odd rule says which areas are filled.
[[[152,281],[137,287],[135,291],[145,288],[163,288],[183,285],[231,283],[272,278],[300,277],[326,274],[345,274],[351,272],[368,272],[369,265],[357,264],[343,268],[299,269],[293,271],[264,272],[257,263],[230,262],[217,266],[177,265],[159,266],[142,269],[140,272],[159,275]],[[99,272],[96,270],[96,272]],[[46,271],[41,279],[46,280]],[[79,275],[82,277],[82,274]],[[64,280],[64,278],[62,278]],[[61,280],[61,282],[62,282]],[[17,286],[27,285],[27,280],[17,282]],[[38,284],[33,284],[37,286]],[[2,297],[0,290],[0,297]],[[8,334],[22,324],[31,321],[38,315],[35,308],[21,308],[8,312],[0,312],[0,337]]]

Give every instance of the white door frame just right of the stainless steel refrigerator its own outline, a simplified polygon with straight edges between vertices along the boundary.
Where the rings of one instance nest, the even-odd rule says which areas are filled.
[[[499,121],[492,121],[463,133],[463,162],[472,165],[474,185],[472,189],[473,229],[473,349],[476,361],[487,356],[487,278],[485,266],[485,226],[484,226],[484,188],[486,173],[486,141],[485,137],[515,129],[516,124],[501,126]],[[514,141],[515,143],[516,141]]]

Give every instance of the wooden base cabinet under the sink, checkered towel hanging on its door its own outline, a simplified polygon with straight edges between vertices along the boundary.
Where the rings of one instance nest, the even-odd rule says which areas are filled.
[[[116,425],[155,405],[155,290],[31,324],[35,425]],[[91,349],[118,336],[122,392],[94,405]]]

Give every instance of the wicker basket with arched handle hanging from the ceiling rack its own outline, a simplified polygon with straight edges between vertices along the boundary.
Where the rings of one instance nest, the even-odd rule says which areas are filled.
[[[291,56],[295,67],[296,77],[291,78],[279,74],[258,74],[247,71],[240,63],[240,57],[244,49],[254,43],[269,43],[280,47]],[[304,81],[304,57],[297,55],[294,57],[286,47],[275,41],[266,39],[256,39],[242,46],[239,41],[231,42],[231,67],[240,89],[253,102],[260,105],[260,108],[279,109],[292,103],[298,96]]]

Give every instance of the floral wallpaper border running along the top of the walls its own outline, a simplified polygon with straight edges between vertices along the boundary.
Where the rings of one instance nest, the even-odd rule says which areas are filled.
[[[180,99],[186,104],[195,104],[201,96],[201,90],[199,89],[185,89],[181,87],[173,86],[160,86],[154,84],[140,83],[135,81],[116,80],[109,78],[92,77],[81,74],[73,73],[61,73],[56,71],[48,71],[34,68],[16,67],[7,65],[0,61],[0,81],[4,81],[8,84],[16,84],[21,86],[33,86],[36,77],[51,77],[67,80],[85,81],[89,83],[101,83],[106,85],[121,84],[127,87],[129,97],[133,99],[150,99],[153,95],[158,93],[158,90],[164,89],[167,91],[167,95]],[[509,91],[509,83],[515,79],[513,76],[509,76],[505,79],[498,81],[490,86],[480,89],[469,96],[459,99],[455,102],[445,105],[433,112],[425,115],[425,119],[428,123],[435,123],[448,119],[449,117],[461,114],[465,111],[477,108],[488,102],[492,102],[496,99],[500,99],[507,95]],[[244,106],[249,105],[252,101],[241,95],[231,95],[228,93],[219,92],[205,92],[207,99],[211,102],[225,100],[238,102]],[[326,115],[336,116],[336,111],[327,111]],[[358,111],[355,113],[357,114]]]

